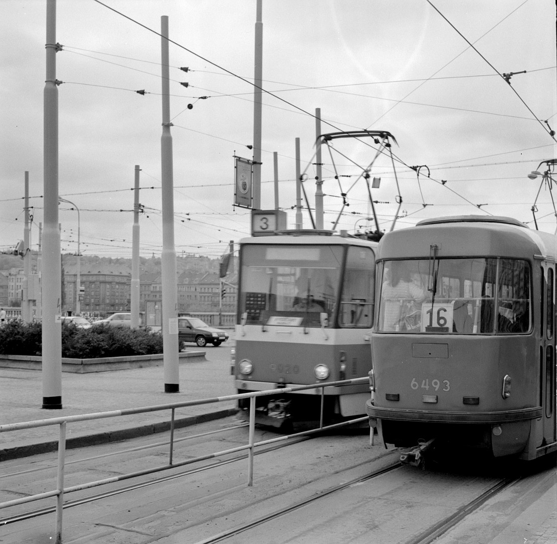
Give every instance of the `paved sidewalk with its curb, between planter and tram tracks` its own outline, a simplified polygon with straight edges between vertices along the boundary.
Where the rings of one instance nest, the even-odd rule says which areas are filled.
[[[188,351],[198,351],[188,349]],[[164,367],[108,372],[62,372],[62,409],[42,408],[42,371],[0,368],[0,425],[172,404],[234,395],[229,361],[194,357],[180,362],[178,393],[164,392]],[[175,411],[177,426],[233,414],[234,401],[213,402]],[[171,411],[147,412],[67,424],[67,448],[152,434],[168,428]],[[60,426],[0,433],[0,461],[57,449]]]

